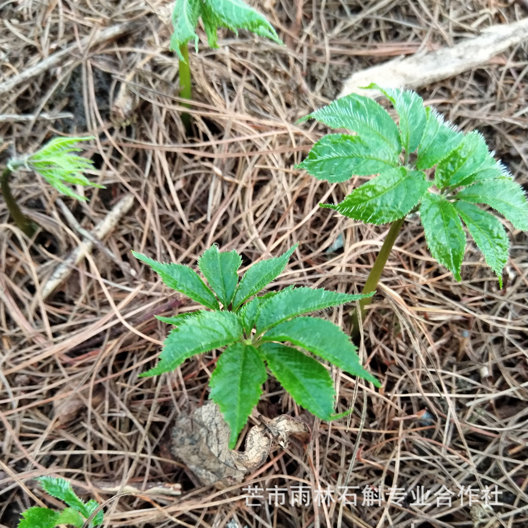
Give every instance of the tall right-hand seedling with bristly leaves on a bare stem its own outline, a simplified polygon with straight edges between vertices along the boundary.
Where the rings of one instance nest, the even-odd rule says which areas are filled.
[[[463,223],[495,271],[502,288],[509,239],[502,222],[476,204],[489,205],[516,229],[528,230],[528,205],[523,189],[495,161],[484,137],[468,134],[444,120],[413,91],[380,88],[399,116],[397,125],[373,99],[355,93],[337,99],[305,118],[355,135],[328,134],[298,167],[318,180],[344,182],[353,176],[376,175],[338,204],[320,204],[372,224],[391,223],[362,293],[375,290],[394,241],[407,214],[418,212],[432,256],[460,281],[465,254]],[[371,298],[359,301],[364,307]],[[353,341],[360,336],[357,312]]]

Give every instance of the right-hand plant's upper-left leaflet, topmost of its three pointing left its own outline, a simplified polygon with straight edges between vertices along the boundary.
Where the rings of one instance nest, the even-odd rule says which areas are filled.
[[[388,156],[398,156],[401,152],[398,127],[386,110],[370,97],[351,93],[300,121],[307,119],[317,119],[331,128],[353,130],[371,148],[387,150]]]

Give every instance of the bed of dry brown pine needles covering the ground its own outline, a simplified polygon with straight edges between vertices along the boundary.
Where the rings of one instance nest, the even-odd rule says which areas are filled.
[[[8,88],[0,93],[0,164],[53,135],[89,133],[97,137],[90,177],[106,185],[87,188],[86,203],[64,200],[76,223],[49,185],[16,175],[19,202],[53,233],[39,243],[22,237],[0,201],[1,528],[16,526],[20,512],[39,501],[59,507],[34,485],[44,474],[69,478],[89,494],[100,479],[139,488],[181,484],[174,497],[92,493],[112,528],[528,526],[525,233],[508,227],[510,261],[499,289],[471,244],[456,282],[410,218],[368,310],[360,350],[383,389],[334,371],[337,412],[353,406],[350,419],[315,420],[309,441],[275,446],[262,468],[224,490],[201,486],[167,447],[178,414],[207,399],[216,355],[187,360],[156,380],[137,377],[154,364],[167,333],[154,314],[195,306],[130,253],[194,265],[217,243],[239,251],[247,267],[299,242],[280,287],[360,291],[388,227],[319,208],[359,182],[328,185],[296,170],[326,132],[296,120],[335,98],[353,71],[528,16],[525,3],[505,2],[253,2],[286,45],[224,30],[219,49],[202,41],[190,59],[191,138],[184,137],[177,62],[168,51],[169,6],[0,3],[0,92]],[[525,42],[420,95],[462,129],[481,131],[528,185],[527,80]],[[117,228],[43,299],[42,285],[82,239],[79,225],[92,229],[129,194],[134,205]],[[350,308],[326,316],[347,329]],[[74,397],[82,404],[68,419]],[[274,418],[302,410],[270,379],[258,412]],[[356,506],[248,507],[243,498],[248,485],[298,482],[361,489]],[[495,484],[503,505],[491,510],[456,495],[451,507],[411,504],[417,486],[431,497],[442,485],[456,492]],[[362,506],[365,486],[381,494],[381,506]],[[391,487],[407,492],[400,504],[386,502]]]

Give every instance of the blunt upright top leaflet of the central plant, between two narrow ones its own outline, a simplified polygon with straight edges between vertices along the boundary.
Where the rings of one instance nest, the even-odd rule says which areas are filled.
[[[221,253],[214,244],[198,259],[200,271],[218,295],[224,309],[233,300],[238,282],[237,270],[241,263],[242,259],[234,249]]]

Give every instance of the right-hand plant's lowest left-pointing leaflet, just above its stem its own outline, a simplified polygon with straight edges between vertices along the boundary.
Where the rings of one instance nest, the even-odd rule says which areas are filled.
[[[429,186],[423,172],[398,167],[357,187],[341,203],[320,206],[335,209],[348,218],[380,225],[403,218]]]

